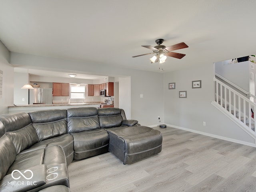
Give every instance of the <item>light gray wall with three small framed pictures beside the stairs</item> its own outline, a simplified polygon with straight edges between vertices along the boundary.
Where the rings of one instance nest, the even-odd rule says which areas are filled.
[[[214,64],[205,64],[164,74],[165,123],[253,144],[250,136],[211,104],[214,100],[214,72]],[[192,89],[194,80],[202,80],[202,88]],[[176,89],[168,89],[171,82],[176,82]],[[184,90],[187,98],[179,98],[178,92]],[[202,125],[203,121],[206,126]]]

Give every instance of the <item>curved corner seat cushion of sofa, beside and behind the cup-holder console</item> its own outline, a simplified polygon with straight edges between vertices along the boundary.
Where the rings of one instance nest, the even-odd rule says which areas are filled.
[[[50,139],[47,147],[60,146],[66,156],[67,165],[69,165],[74,158],[74,140],[70,134],[54,137]]]

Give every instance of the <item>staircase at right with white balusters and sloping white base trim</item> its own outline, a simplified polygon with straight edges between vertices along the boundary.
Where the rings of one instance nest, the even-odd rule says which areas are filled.
[[[223,80],[214,77],[215,101],[212,104],[256,140],[256,104],[248,98],[248,93],[228,86]]]

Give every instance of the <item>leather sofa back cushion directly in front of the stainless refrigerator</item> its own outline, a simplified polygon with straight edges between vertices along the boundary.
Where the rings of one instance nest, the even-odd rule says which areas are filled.
[[[52,109],[28,113],[36,130],[38,141],[67,133],[67,110]]]

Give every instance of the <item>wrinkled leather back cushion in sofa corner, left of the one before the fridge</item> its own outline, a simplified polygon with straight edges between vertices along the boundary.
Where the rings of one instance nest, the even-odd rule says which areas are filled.
[[[17,154],[35,144],[36,131],[27,113],[4,114],[0,116],[6,136],[13,142]]]

